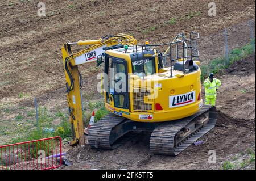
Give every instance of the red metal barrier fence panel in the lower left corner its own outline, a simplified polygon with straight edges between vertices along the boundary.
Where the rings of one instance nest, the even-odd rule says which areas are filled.
[[[61,138],[0,146],[0,170],[47,170],[61,165]]]

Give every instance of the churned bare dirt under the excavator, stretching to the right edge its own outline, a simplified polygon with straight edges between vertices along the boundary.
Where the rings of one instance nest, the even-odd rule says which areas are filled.
[[[150,134],[141,134],[115,150],[72,148],[67,153],[72,165],[62,169],[220,169],[229,155],[255,150],[255,69],[251,67],[255,68],[255,55],[237,61],[220,77],[217,124],[200,138],[203,145],[189,146],[177,157],[153,155]],[[209,150],[216,151],[215,164],[208,162]]]

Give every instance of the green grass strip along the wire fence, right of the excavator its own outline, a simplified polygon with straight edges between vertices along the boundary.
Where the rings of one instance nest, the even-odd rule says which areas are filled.
[[[226,63],[225,57],[214,58],[208,65],[201,65],[201,81],[208,77],[209,73],[220,73],[221,70],[228,68],[231,64],[238,60],[246,58],[254,53],[255,40],[246,44],[242,48],[233,49],[229,54],[229,63]]]

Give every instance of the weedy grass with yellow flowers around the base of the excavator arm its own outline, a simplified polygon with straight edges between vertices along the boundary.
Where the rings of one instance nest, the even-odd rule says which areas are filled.
[[[104,106],[104,102],[96,101],[89,102],[85,105],[87,112],[83,112],[85,117],[85,126],[88,125],[92,111],[95,110],[95,122],[100,120],[102,117],[109,113]],[[10,110],[6,110],[9,112]],[[14,120],[11,121],[11,128],[1,128],[1,135],[11,136],[11,140],[7,141],[4,145],[13,144],[17,142],[39,140],[41,138],[60,136],[61,138],[67,138],[67,140],[72,139],[71,123],[69,123],[68,113],[63,113],[60,110],[56,112],[49,112],[46,107],[38,107],[38,125],[36,123],[35,110],[25,111],[24,114],[19,113],[15,116]],[[60,119],[59,124],[55,123],[53,120]],[[53,128],[53,132],[46,132],[44,128]]]

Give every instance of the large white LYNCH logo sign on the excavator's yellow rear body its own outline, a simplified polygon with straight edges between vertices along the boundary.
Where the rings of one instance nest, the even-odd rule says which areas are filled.
[[[196,101],[196,91],[188,92],[186,94],[179,94],[169,97],[169,107],[179,107],[191,104]]]

